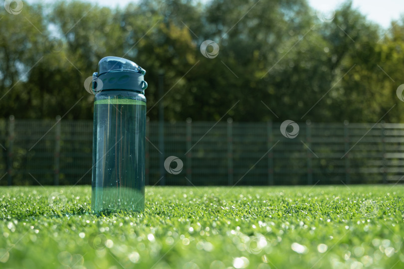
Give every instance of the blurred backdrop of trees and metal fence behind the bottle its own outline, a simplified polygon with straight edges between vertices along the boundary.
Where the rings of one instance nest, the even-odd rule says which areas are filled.
[[[147,70],[148,184],[400,181],[400,1],[334,2],[1,1],[0,185],[91,183],[83,84],[105,56]]]

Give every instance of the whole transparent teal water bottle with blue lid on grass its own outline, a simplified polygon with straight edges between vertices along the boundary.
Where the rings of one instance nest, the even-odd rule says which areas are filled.
[[[93,212],[144,209],[145,74],[136,63],[112,56],[102,58],[93,74]]]

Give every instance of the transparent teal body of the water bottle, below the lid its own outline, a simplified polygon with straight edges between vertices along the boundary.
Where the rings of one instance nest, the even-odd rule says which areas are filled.
[[[95,96],[91,209],[142,211],[146,98],[127,90]]]

